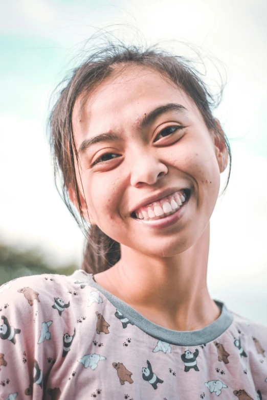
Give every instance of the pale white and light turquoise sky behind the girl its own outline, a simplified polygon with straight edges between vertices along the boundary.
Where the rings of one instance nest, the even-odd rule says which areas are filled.
[[[124,23],[115,34],[129,42],[135,29],[149,44],[190,42],[218,60],[228,82],[215,116],[230,139],[233,164],[228,190],[211,218],[208,288],[233,311],[267,323],[266,2],[3,0],[0,5],[1,240],[39,247],[55,265],[81,262],[83,235],[56,192],[45,129],[51,92],[84,40],[97,28]],[[185,46],[175,49],[187,55]],[[205,57],[204,62],[212,83],[218,76]],[[222,188],[226,174],[221,178]]]

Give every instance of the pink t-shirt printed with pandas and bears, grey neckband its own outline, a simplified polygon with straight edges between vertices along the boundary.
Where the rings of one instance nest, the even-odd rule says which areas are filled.
[[[267,399],[267,326],[214,300],[197,331],[152,323],[92,274],[0,287],[0,399]]]

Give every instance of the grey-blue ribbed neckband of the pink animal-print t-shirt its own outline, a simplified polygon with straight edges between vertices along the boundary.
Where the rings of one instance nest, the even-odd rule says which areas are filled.
[[[129,304],[108,292],[95,281],[92,273],[87,273],[84,270],[79,269],[73,273],[73,275],[77,274],[82,274],[86,283],[101,292],[132,324],[136,325],[141,331],[145,332],[149,336],[163,342],[179,346],[206,344],[222,335],[229,328],[234,319],[232,312],[228,310],[224,302],[213,299],[221,310],[221,314],[215,321],[196,331],[174,331],[151,322],[138,311],[133,309]]]

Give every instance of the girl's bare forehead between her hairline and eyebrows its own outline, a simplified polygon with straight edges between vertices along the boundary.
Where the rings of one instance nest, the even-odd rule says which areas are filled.
[[[116,71],[74,106],[73,125],[78,142],[102,130],[120,129],[123,124],[135,126],[144,113],[164,103],[179,103],[198,115],[195,103],[177,85],[152,68],[130,66]]]

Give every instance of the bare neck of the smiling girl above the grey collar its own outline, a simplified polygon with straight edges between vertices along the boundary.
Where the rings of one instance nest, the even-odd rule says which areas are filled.
[[[156,260],[121,245],[120,261],[95,280],[154,323],[177,331],[201,329],[220,314],[207,289],[209,238],[208,224],[185,252]]]

